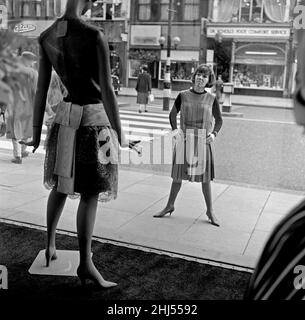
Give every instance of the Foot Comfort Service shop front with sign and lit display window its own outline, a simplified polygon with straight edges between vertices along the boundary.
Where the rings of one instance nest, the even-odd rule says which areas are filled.
[[[235,94],[283,97],[291,92],[288,88],[292,68],[288,56],[290,28],[287,25],[252,27],[211,23],[207,37],[209,49],[217,48],[213,50],[213,63],[218,65],[217,70],[227,70],[226,81],[234,83]],[[222,50],[227,55],[226,68],[219,54],[219,48],[224,47],[222,43],[227,47]]]

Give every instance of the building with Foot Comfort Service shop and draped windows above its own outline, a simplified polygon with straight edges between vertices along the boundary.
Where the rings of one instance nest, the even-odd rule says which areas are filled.
[[[213,0],[206,61],[235,93],[286,97],[294,76],[294,0]]]

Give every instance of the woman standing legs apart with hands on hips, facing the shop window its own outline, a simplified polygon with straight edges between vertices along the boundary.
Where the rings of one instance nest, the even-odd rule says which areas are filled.
[[[213,211],[211,181],[215,176],[212,145],[222,126],[222,116],[217,99],[205,90],[206,87],[214,85],[214,78],[213,71],[207,65],[199,65],[192,76],[193,87],[180,92],[175,100],[169,116],[172,130],[176,133],[171,173],[173,181],[168,202],[161,212],[154,215],[155,218],[162,218],[175,210],[174,204],[181,189],[182,180],[188,180],[201,183],[207,207],[206,215],[211,224],[219,226]],[[179,112],[181,129],[177,130]],[[215,119],[214,127],[212,126],[213,118]],[[188,139],[190,131],[194,137],[193,140]],[[202,137],[202,135],[206,136]],[[193,154],[189,152],[190,144],[195,145]]]

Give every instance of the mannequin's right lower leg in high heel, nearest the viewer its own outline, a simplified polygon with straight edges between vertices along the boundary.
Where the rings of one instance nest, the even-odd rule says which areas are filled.
[[[114,287],[117,284],[106,281],[96,269],[91,258],[92,233],[96,217],[98,195],[81,195],[77,210],[77,235],[80,263],[77,275],[82,285],[89,279],[102,288]]]

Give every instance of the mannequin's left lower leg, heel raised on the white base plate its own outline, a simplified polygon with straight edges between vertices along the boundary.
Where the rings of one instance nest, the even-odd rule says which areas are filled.
[[[49,195],[47,205],[47,247],[46,247],[46,266],[48,267],[51,260],[55,260],[56,256],[56,227],[66,203],[67,195],[57,192],[53,189]]]

